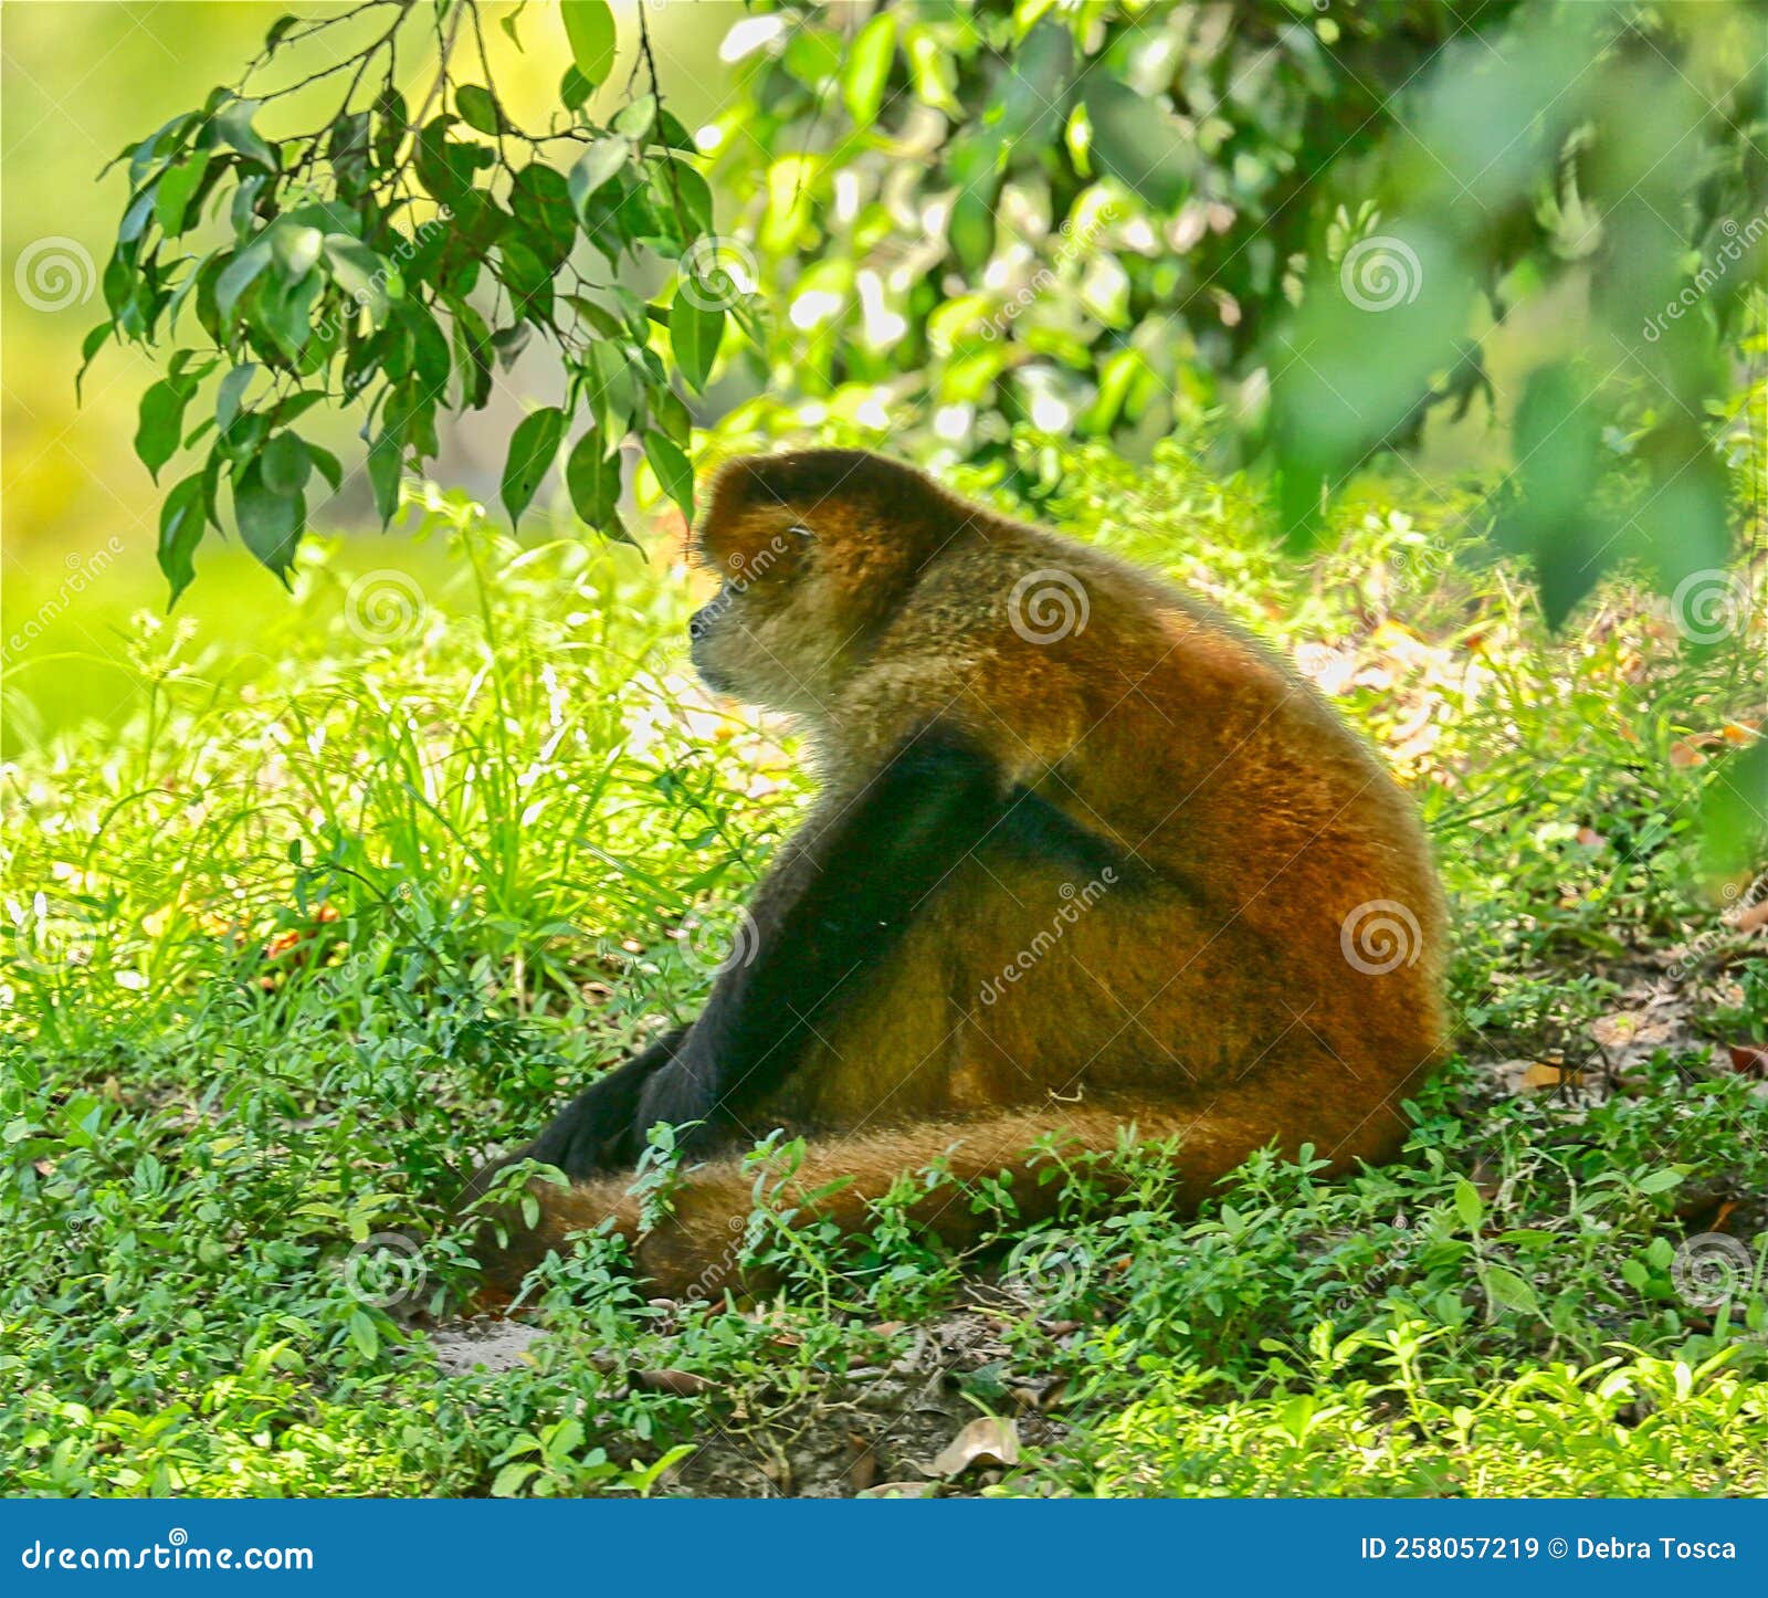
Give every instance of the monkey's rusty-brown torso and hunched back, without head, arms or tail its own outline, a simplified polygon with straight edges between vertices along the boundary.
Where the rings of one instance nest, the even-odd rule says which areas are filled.
[[[1040,582],[1066,615],[1036,610]],[[1209,606],[987,521],[928,567],[877,658],[836,727],[956,723],[1121,868],[967,859],[781,1115],[1206,1103],[1232,1084],[1268,1096],[1278,1131],[1322,1098],[1361,1117],[1437,1059],[1446,917],[1411,803]],[[1393,1119],[1358,1153],[1383,1153]]]

